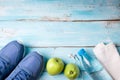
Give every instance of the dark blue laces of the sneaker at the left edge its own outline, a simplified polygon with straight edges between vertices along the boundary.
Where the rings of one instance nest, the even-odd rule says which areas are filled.
[[[8,67],[9,63],[0,58],[0,75],[4,74],[4,72],[7,70],[7,67]]]

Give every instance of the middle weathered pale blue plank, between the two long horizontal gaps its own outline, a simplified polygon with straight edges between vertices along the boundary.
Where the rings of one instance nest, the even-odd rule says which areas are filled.
[[[116,22],[0,22],[0,46],[19,40],[30,47],[94,46],[113,41],[120,46]]]

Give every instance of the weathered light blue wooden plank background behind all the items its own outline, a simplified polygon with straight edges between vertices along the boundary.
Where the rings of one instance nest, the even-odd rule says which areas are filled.
[[[65,63],[81,48],[93,54],[100,42],[120,51],[120,0],[0,0],[0,47],[11,40]],[[44,71],[40,80],[67,78]]]

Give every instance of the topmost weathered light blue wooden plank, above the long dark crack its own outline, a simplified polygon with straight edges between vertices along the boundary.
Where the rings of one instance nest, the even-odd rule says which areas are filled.
[[[0,20],[120,19],[120,0],[0,0]]]

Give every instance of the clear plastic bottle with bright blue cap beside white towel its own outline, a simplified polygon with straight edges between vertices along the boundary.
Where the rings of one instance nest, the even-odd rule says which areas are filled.
[[[82,76],[85,76],[83,80],[113,80],[100,62],[84,49],[79,50],[77,56],[82,64],[80,68],[83,70]]]

